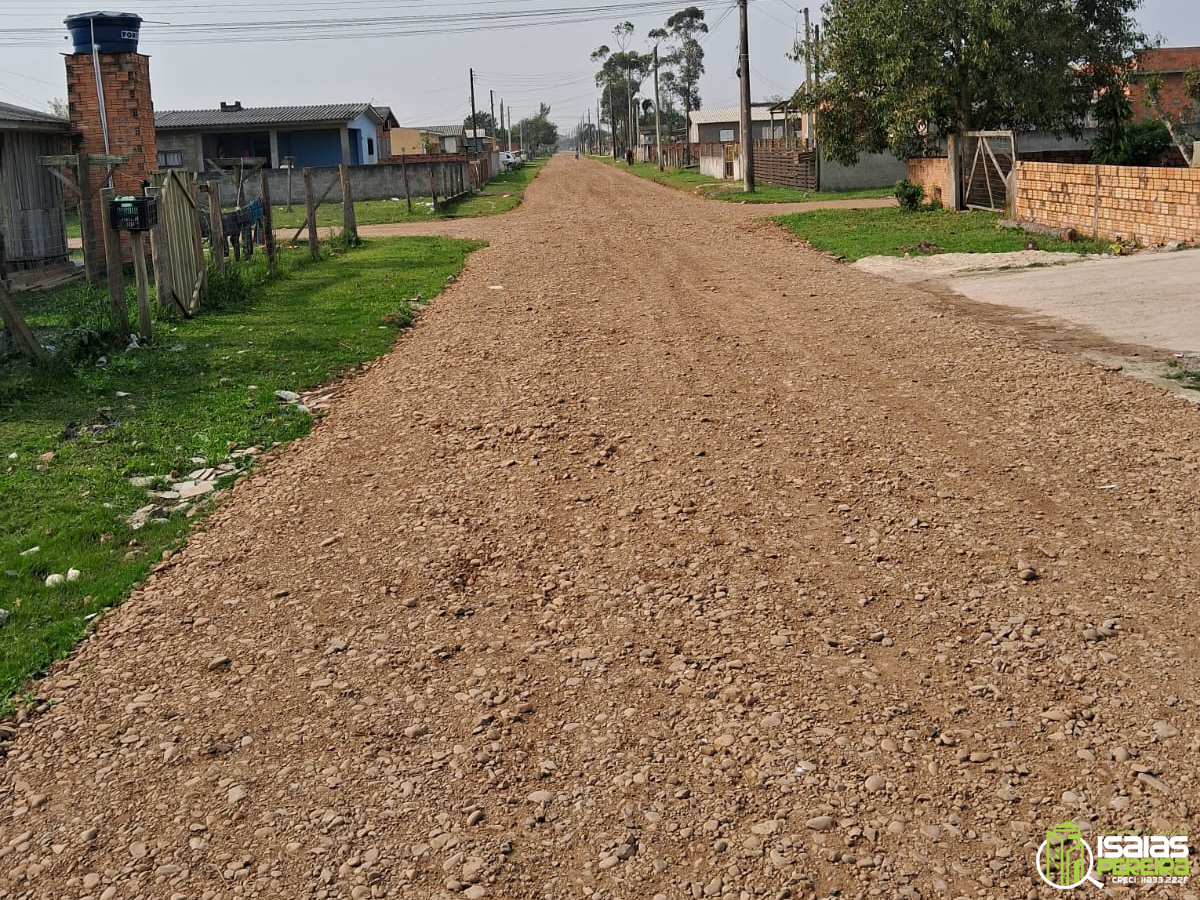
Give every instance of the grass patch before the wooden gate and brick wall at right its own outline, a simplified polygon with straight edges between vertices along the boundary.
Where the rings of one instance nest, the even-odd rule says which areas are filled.
[[[1030,235],[1016,228],[997,228],[994,212],[947,210],[904,212],[896,208],[814,210],[779,216],[780,224],[817,250],[853,263],[863,257],[902,257],[905,253],[1006,253],[1025,250],[1033,240],[1038,250],[1064,253],[1104,253],[1108,245],[1091,240],[1063,241]]]

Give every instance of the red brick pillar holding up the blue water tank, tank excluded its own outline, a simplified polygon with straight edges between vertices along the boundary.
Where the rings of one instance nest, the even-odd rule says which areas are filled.
[[[96,72],[91,54],[66,56],[67,106],[71,130],[79,140],[78,152],[96,156],[104,152],[104,134],[100,122]],[[101,53],[100,74],[104,86],[104,110],[108,115],[108,152],[128,156],[130,161],[113,172],[118,194],[140,194],[142,181],[158,170],[158,146],[155,140],[154,101],[150,96],[150,58],[140,53]],[[92,186],[97,187],[103,168],[92,167]],[[91,198],[94,216],[101,215],[98,191]],[[94,218],[98,222],[98,218]],[[103,252],[84,247],[84,252]]]

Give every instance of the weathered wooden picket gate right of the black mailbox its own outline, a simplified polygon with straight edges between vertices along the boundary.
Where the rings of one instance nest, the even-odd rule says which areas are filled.
[[[170,286],[170,299],[185,316],[194,316],[206,294],[204,244],[200,239],[199,188],[186,172],[170,169],[155,175],[158,185],[158,222],[166,244],[167,272],[156,272]],[[160,302],[167,304],[160,289]]]

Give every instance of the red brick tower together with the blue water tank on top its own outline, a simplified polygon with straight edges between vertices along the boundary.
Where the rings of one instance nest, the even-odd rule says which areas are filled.
[[[137,16],[86,13],[66,20],[74,38],[74,53],[66,56],[67,107],[76,151],[89,156],[127,156],[128,162],[113,172],[113,187],[118,194],[142,194],[142,182],[158,169],[158,146],[155,140],[154,101],[150,96],[150,58],[137,52],[142,19]],[[92,47],[97,53],[92,54]],[[96,70],[100,70],[100,86]],[[101,116],[101,97],[104,115]],[[104,125],[108,126],[108,149],[104,149]],[[100,181],[103,168],[90,172],[92,221],[101,222]],[[103,256],[103,242],[97,232],[92,235],[98,246],[84,247],[90,259]],[[91,256],[96,254],[96,256]]]

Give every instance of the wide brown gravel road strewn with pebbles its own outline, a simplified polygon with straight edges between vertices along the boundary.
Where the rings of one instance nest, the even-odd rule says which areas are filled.
[[[1061,896],[1049,827],[1195,834],[1196,409],[598,163],[445,228],[38,685],[0,896]]]

